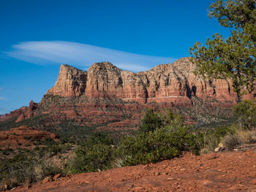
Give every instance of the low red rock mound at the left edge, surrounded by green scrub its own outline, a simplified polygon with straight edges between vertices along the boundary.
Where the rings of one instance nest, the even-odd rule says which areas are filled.
[[[10,131],[0,131],[0,148],[11,146],[22,147],[20,145],[32,145],[34,140],[43,139],[59,139],[58,134],[49,133],[47,131],[38,131],[29,126],[20,126],[11,128]]]

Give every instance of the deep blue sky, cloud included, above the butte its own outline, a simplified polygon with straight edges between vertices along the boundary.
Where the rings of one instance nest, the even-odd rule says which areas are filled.
[[[1,0],[0,114],[39,102],[61,64],[110,61],[134,72],[189,56],[229,31],[208,18],[211,0]]]

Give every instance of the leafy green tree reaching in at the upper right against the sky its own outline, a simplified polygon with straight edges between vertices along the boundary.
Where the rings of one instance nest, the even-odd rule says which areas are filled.
[[[190,47],[196,74],[208,80],[230,79],[241,101],[253,90],[256,77],[256,0],[217,0],[210,6],[209,17],[230,28],[230,37],[220,34],[208,38],[206,46],[196,42]]]

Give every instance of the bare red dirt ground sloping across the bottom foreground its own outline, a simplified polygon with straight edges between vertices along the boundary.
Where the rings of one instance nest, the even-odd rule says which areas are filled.
[[[222,152],[68,175],[13,191],[256,191],[256,152]]]

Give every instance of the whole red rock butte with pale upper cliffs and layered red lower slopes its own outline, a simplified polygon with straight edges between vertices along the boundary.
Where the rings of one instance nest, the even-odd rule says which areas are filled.
[[[236,93],[230,80],[209,82],[193,73],[195,65],[189,58],[173,64],[161,64],[146,72],[128,72],[109,62],[96,63],[83,72],[72,66],[61,65],[53,88],[39,104],[2,115],[0,120],[17,118],[16,122],[35,115],[48,115],[45,125],[73,119],[101,129],[136,128],[145,108],[158,110],[171,107],[195,107],[194,98],[206,101],[206,107],[231,107]],[[243,97],[252,99],[255,91]]]

